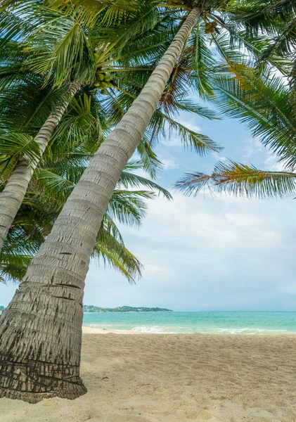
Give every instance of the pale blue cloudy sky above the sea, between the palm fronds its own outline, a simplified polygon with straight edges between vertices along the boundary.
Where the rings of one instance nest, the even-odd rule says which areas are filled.
[[[165,168],[157,179],[169,190],[188,171],[210,173],[231,158],[259,168],[277,168],[274,157],[236,120],[210,121],[193,114],[179,122],[224,147],[204,158],[167,136],[156,152]],[[172,191],[172,190],[171,190]],[[295,201],[248,200],[216,193],[148,201],[141,228],[120,226],[124,241],[145,269],[131,286],[113,269],[91,264],[84,304],[100,307],[167,307],[198,310],[296,310]],[[0,283],[0,305],[15,285]]]

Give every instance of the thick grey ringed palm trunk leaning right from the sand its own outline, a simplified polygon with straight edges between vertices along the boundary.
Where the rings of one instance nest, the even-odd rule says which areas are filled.
[[[189,13],[139,97],[92,158],[3,312],[0,397],[34,403],[86,392],[79,378],[82,299],[96,236],[198,14],[196,8]]]

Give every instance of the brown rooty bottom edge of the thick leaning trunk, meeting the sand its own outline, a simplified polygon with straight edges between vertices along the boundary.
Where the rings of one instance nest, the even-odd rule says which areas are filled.
[[[48,392],[32,392],[32,391],[20,391],[14,390],[13,388],[2,388],[0,387],[0,397],[6,399],[17,399],[23,402],[36,404],[41,402],[43,399],[51,399],[52,397],[60,397],[62,399],[74,400],[77,397],[86,394],[87,390],[83,383],[72,384],[61,382],[60,388],[55,388],[53,391]]]

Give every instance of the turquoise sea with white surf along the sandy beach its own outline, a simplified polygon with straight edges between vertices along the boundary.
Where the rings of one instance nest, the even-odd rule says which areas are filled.
[[[296,312],[86,312],[83,325],[143,333],[296,333]]]

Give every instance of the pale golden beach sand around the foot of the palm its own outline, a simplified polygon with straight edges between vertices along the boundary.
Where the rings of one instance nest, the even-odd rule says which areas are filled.
[[[1,422],[296,421],[296,335],[86,331],[87,394],[0,399]]]

